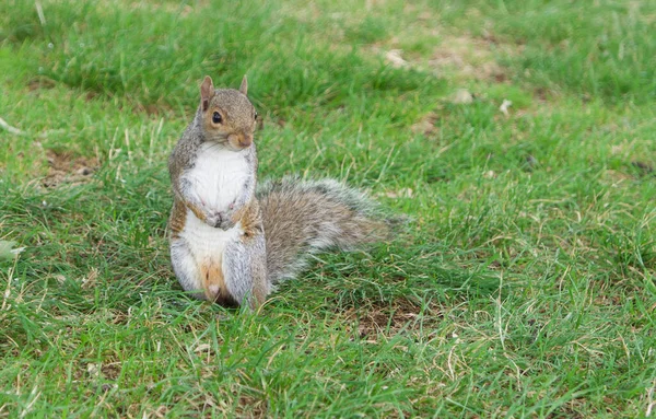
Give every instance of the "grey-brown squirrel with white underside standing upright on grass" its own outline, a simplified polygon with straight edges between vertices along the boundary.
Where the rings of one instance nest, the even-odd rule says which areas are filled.
[[[168,159],[171,260],[181,287],[224,306],[260,306],[307,255],[387,237],[368,198],[333,179],[284,177],[256,187],[258,114],[238,90],[207,75],[200,105]]]

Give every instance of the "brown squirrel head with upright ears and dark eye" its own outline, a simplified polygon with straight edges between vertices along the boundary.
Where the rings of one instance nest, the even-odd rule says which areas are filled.
[[[206,75],[200,85],[201,123],[208,141],[215,141],[239,151],[250,147],[257,123],[257,112],[246,97],[248,81],[239,90],[214,89]]]

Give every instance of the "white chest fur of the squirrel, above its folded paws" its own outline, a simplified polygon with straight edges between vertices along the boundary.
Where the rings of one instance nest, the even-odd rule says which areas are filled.
[[[200,202],[215,211],[227,210],[250,176],[245,153],[211,143],[201,147],[196,165],[184,175]]]

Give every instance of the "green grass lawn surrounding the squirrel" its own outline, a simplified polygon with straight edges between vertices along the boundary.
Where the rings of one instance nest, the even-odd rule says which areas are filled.
[[[25,249],[0,259],[0,417],[648,416],[654,16],[3,2],[0,241]],[[408,232],[319,255],[259,313],[187,298],[165,162],[206,73],[248,74],[260,177],[345,181]]]

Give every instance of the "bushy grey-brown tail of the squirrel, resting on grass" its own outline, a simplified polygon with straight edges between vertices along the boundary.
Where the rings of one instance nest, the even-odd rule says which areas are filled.
[[[272,284],[292,278],[309,254],[353,249],[389,235],[389,223],[376,205],[337,181],[285,177],[260,184],[257,197]]]

